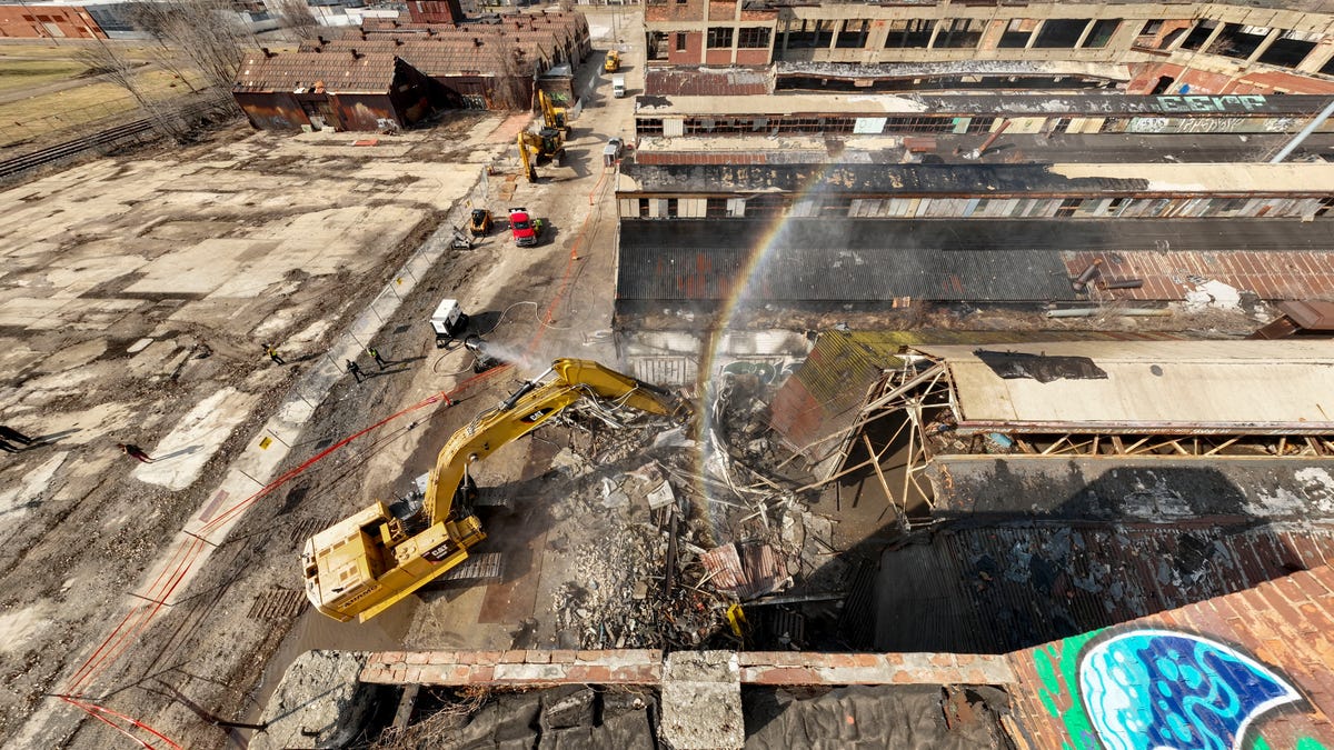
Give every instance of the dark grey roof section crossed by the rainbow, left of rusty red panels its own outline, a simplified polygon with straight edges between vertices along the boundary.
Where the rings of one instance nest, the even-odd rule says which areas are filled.
[[[959,248],[947,223],[847,219],[672,222],[624,219],[619,300],[884,303],[1074,299],[1058,252],[1031,246]],[[762,263],[754,264],[763,243]],[[744,284],[744,286],[742,286]]]

